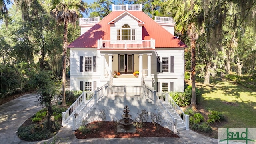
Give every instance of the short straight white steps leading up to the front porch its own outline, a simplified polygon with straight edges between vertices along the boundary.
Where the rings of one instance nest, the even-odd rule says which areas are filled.
[[[140,78],[113,78],[113,86],[141,86]]]

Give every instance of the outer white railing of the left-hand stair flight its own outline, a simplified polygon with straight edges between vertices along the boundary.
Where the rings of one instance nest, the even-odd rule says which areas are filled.
[[[82,92],[82,94],[76,99],[76,101],[66,110],[66,112],[62,112],[62,126],[65,126],[68,118],[74,113],[76,108],[80,106],[85,101],[84,94],[92,93],[92,92]]]

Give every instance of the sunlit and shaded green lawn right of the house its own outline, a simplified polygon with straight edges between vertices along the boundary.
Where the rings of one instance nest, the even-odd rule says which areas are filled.
[[[216,78],[213,86],[202,86],[202,78],[198,81],[201,84],[197,88],[202,92],[200,106],[222,112],[227,121],[223,128],[256,128],[256,91],[226,79]]]

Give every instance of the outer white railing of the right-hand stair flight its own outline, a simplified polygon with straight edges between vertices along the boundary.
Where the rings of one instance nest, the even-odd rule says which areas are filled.
[[[176,102],[172,99],[172,97],[170,96],[169,93],[165,93],[165,101],[168,102],[170,104],[170,106],[175,110],[175,112],[178,114],[178,116],[180,117],[180,119],[182,120],[182,122],[185,124],[186,126],[186,130],[189,130],[189,115],[185,114],[180,107],[178,106],[178,104],[176,104]]]

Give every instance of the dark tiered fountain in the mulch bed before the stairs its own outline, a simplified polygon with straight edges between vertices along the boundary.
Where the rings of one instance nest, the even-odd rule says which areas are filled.
[[[126,105],[123,110],[125,114],[123,114],[121,116],[122,119],[119,120],[120,125],[118,126],[118,132],[136,132],[136,128],[133,126],[133,120],[131,119],[132,115],[128,114],[130,112],[128,109],[129,108]],[[122,126],[122,128],[120,126]]]

